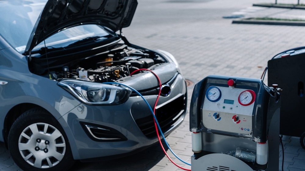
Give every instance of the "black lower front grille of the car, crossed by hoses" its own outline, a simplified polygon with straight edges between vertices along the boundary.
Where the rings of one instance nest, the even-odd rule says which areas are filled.
[[[185,104],[185,97],[184,95],[181,95],[173,101],[155,110],[155,115],[162,132],[168,131],[175,124],[175,122],[180,119],[185,109]],[[156,130],[152,115],[139,118],[135,120],[135,122],[147,138],[156,137]]]

